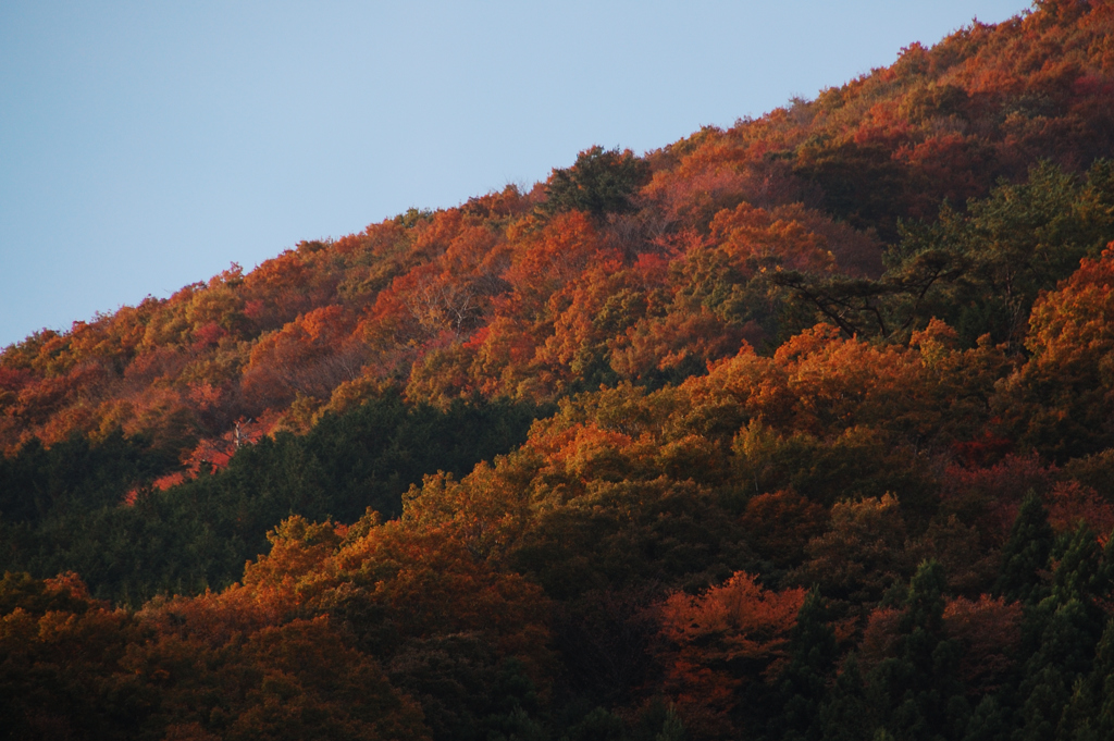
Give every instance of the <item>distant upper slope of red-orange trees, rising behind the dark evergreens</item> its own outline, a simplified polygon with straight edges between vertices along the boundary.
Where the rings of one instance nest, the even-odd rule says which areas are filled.
[[[411,212],[36,334],[0,358],[0,445],[120,428],[183,449],[240,418],[304,429],[384,382],[414,400],[547,400],[677,381],[742,339],[772,348],[817,316],[769,271],[878,277],[910,242],[899,220],[932,223],[1040,160],[1081,174],[1107,155],[1110,12],[1043,3],[730,130],[644,158],[597,148],[531,193]],[[1105,207],[1100,187],[1086,197]]]

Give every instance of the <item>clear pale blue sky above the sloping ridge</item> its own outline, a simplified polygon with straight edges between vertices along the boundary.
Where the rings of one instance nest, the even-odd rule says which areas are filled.
[[[0,2],[0,348],[813,98],[1019,0]]]

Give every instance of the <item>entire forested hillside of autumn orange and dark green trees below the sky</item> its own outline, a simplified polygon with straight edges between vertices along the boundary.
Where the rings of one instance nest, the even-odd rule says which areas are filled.
[[[0,738],[1114,738],[1114,1],[0,353]]]

